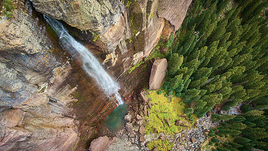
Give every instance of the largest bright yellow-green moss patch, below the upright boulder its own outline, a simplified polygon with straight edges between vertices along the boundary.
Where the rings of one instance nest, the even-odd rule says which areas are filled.
[[[152,106],[150,111],[150,117],[146,116],[145,119],[151,119],[150,122],[146,123],[146,134],[153,133],[156,128],[158,132],[165,132],[166,134],[173,135],[183,129],[190,128],[192,122],[188,119],[181,117],[184,114],[185,104],[179,97],[173,97],[172,102],[165,97],[165,93],[158,95],[158,91],[150,91],[147,98],[151,99],[151,103],[155,104]],[[156,111],[158,110],[158,112]],[[164,118],[169,119],[171,127],[164,121]],[[176,120],[182,120],[186,126],[175,125]]]

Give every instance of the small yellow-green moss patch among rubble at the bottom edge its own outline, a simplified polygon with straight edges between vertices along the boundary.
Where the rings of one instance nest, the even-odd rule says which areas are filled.
[[[171,150],[174,146],[174,142],[170,143],[168,140],[162,141],[161,139],[149,141],[148,147],[152,150],[154,147],[157,147],[159,151]]]

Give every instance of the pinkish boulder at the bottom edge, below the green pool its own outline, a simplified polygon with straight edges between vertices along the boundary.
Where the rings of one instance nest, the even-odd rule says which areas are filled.
[[[115,137],[98,137],[91,141],[89,150],[91,151],[105,151],[115,141]]]

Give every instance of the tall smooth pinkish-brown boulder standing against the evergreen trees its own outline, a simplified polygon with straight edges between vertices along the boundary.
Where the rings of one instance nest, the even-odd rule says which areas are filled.
[[[163,83],[164,78],[166,76],[167,68],[168,68],[167,59],[164,58],[155,60],[149,81],[150,90],[157,90],[161,87],[161,84]]]

